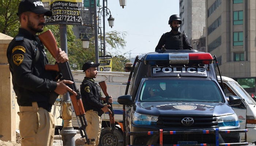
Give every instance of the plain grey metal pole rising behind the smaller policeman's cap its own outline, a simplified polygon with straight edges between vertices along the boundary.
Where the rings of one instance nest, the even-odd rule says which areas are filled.
[[[95,47],[95,63],[99,63],[99,48],[98,48],[98,26],[97,26],[97,2],[94,0],[94,47]]]

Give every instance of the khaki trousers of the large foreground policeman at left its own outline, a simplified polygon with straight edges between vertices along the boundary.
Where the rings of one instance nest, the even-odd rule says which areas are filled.
[[[52,146],[54,138],[53,115],[44,108],[20,106],[18,112],[21,146]]]

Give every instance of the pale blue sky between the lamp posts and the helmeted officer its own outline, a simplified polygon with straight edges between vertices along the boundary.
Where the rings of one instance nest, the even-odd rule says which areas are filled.
[[[102,5],[102,0],[100,3]],[[105,32],[126,32],[126,46],[120,51],[125,57],[134,58],[155,51],[161,35],[171,30],[169,17],[179,14],[179,0],[127,0],[124,8],[119,0],[108,0],[108,8],[114,26],[109,27],[107,16]]]

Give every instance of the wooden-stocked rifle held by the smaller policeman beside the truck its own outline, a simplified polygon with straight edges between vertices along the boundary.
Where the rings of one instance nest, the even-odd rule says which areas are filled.
[[[107,85],[105,81],[101,81],[99,82],[99,86],[101,87],[104,95],[106,96],[106,103],[110,105],[109,110],[111,112],[109,112],[109,120],[110,120],[110,125],[111,125],[111,132],[114,135],[114,129],[115,129],[115,119],[114,119],[114,111],[113,111],[113,107],[112,107],[112,103],[109,103],[109,94],[107,92]],[[100,111],[101,112],[101,111]]]

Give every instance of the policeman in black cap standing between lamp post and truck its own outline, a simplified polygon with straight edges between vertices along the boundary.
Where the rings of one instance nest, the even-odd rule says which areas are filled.
[[[99,85],[93,78],[97,77],[97,67],[99,63],[95,64],[92,61],[87,61],[83,64],[82,70],[85,72],[84,80],[80,86],[80,92],[84,105],[85,118],[87,121],[86,134],[89,139],[95,139],[90,143],[90,146],[97,146],[99,144],[99,137],[101,134],[101,116],[99,112],[102,110],[110,112],[110,105],[103,105],[102,93]],[[113,103],[112,97],[109,98],[109,103]]]

